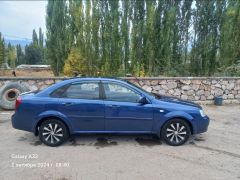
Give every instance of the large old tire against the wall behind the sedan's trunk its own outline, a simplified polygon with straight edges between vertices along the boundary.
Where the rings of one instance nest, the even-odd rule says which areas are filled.
[[[0,107],[6,110],[15,109],[15,101],[19,94],[29,89],[18,82],[10,82],[0,89]]]

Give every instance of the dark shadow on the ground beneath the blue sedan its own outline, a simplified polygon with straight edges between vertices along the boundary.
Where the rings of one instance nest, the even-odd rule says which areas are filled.
[[[30,136],[30,134],[31,133],[25,133],[24,136],[18,138],[18,141],[28,142],[33,146],[43,145],[38,137],[32,134]],[[202,135],[193,135],[186,144],[194,145],[202,141],[205,141],[205,138]],[[70,136],[63,146],[91,146],[100,149],[124,144],[154,147],[162,145],[163,143],[157,136],[145,134],[79,134]]]

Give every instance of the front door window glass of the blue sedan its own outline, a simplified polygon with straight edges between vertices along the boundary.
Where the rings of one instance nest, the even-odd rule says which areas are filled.
[[[137,103],[141,96],[131,89],[115,83],[104,83],[106,100]]]

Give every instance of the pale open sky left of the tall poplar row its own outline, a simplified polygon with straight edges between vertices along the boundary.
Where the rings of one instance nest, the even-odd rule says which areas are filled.
[[[7,39],[32,39],[39,27],[46,32],[47,1],[0,1],[0,32]]]

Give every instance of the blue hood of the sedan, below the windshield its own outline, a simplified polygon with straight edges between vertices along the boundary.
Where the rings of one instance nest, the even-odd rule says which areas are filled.
[[[161,95],[161,98],[158,99],[158,100],[159,101],[170,102],[170,103],[175,103],[175,104],[181,104],[181,105],[197,107],[197,108],[202,109],[202,107],[199,104],[197,104],[197,103],[194,103],[192,101],[182,100],[180,98],[176,98],[176,97],[172,97],[172,96],[163,96],[163,95]]]

